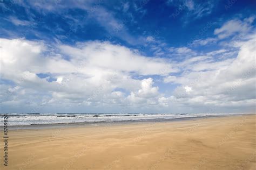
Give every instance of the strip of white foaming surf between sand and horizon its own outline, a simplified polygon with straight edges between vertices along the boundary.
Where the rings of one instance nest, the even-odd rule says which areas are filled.
[[[1,114],[1,124],[3,124]],[[120,122],[120,121],[167,121],[181,118],[196,118],[210,116],[227,116],[240,114],[8,114],[8,124],[58,124],[82,122]],[[1,125],[0,124],[0,125]]]

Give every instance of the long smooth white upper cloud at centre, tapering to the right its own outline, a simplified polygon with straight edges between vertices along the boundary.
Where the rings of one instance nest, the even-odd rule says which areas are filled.
[[[135,72],[140,75],[164,75],[177,72],[177,69],[173,68],[165,59],[148,58],[131,51],[129,48],[112,45],[109,42],[95,41],[77,46],[80,48],[62,45],[60,49],[63,53],[73,56],[73,59],[77,61],[87,62],[91,67],[118,72]],[[95,73],[95,70],[91,69],[86,70],[86,73],[92,71]]]

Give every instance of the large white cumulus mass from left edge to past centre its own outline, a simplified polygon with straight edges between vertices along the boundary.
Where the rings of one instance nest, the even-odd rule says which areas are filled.
[[[57,45],[54,52],[44,42],[24,39],[0,39],[0,46],[1,77],[24,90],[24,96],[18,95],[15,100],[19,102],[25,95],[38,95],[50,96],[49,105],[58,101],[86,105],[143,101],[152,104],[149,99],[158,95],[153,79],[139,80],[132,76],[164,76],[177,71],[166,59],[148,58],[109,42]],[[130,95],[117,88],[127,90]]]

